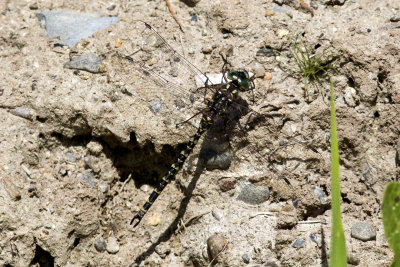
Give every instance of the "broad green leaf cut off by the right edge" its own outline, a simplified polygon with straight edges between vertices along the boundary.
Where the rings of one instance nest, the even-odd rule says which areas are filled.
[[[400,183],[391,182],[385,188],[382,211],[383,228],[389,247],[394,252],[392,267],[400,266]]]

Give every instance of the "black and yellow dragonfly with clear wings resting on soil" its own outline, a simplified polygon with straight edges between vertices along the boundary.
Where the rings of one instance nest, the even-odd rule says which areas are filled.
[[[241,105],[237,102],[241,93],[255,89],[254,76],[245,69],[228,68],[230,64],[226,57],[221,55],[224,65],[220,80],[211,79],[173,49],[151,25],[141,21],[138,23],[142,27],[142,38],[133,42],[134,52],[118,53],[118,57],[125,62],[127,68],[138,73],[143,80],[151,80],[159,90],[168,91],[189,108],[195,106],[195,102],[200,102],[201,107],[197,112],[192,111],[194,115],[188,119],[200,116],[196,132],[132,218],[130,224],[134,227],[139,225],[161,192],[182,169],[204,133],[215,126],[220,118],[229,117],[236,105]],[[196,81],[200,86],[196,85]],[[188,84],[191,84],[190,88]],[[181,108],[179,105],[176,107]],[[284,178],[284,181],[290,185],[289,180]]]

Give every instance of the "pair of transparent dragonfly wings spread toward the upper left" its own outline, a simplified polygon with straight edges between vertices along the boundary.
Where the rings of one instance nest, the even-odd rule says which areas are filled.
[[[125,42],[119,57],[126,68],[152,81],[164,93],[190,99],[196,88],[212,85],[207,77],[174,50],[150,25],[137,22],[133,36]],[[200,82],[199,82],[200,81]]]

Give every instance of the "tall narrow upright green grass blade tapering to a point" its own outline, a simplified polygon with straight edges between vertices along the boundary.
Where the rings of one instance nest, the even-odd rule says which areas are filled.
[[[342,215],[340,212],[340,177],[339,177],[339,146],[336,130],[335,96],[333,80],[331,79],[331,186],[332,186],[332,233],[330,266],[347,266],[346,241],[344,237]]]

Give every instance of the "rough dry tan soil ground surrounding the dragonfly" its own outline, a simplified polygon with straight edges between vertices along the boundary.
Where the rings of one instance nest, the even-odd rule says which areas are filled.
[[[290,36],[302,34],[313,53],[339,51],[333,76],[349,263],[388,266],[393,254],[384,237],[381,200],[385,185],[400,173],[400,22],[391,19],[400,15],[398,1],[319,0],[311,3],[314,16],[297,1],[172,5],[184,33],[163,1],[2,2],[0,265],[207,266],[207,240],[218,234],[228,244],[217,266],[326,266],[329,107],[320,94],[307,99],[302,79],[287,75],[290,70],[280,64],[290,55]],[[121,20],[71,50],[54,46],[36,18],[37,12],[59,9]],[[197,21],[191,21],[194,14]],[[146,90],[140,77],[115,64],[116,51],[134,52],[127,43],[138,38],[138,19],[203,71],[219,72],[223,52],[235,67],[255,73],[254,94],[241,97],[256,112],[241,116],[242,129],[229,130],[228,168],[204,167],[199,153],[213,136],[202,138],[176,181],[132,228],[139,205],[195,132],[187,124],[175,127],[193,109],[177,110],[169,104],[174,94]],[[282,54],[257,53],[262,48]],[[70,57],[88,53],[103,58],[105,72],[63,67]],[[155,98],[162,100],[159,113],[149,108]],[[16,116],[16,108],[30,114]],[[319,154],[298,144],[266,157],[293,141],[291,136],[314,139],[310,145]],[[239,200],[249,183],[268,187],[269,200]],[[321,220],[327,224],[302,223]],[[374,240],[350,236],[357,222],[373,226]],[[304,246],[293,247],[295,239]]]

